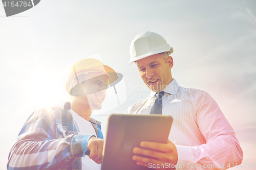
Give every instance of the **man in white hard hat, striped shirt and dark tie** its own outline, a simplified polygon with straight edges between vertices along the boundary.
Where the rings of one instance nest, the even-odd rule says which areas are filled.
[[[173,48],[159,34],[144,32],[131,43],[146,99],[126,114],[163,114],[174,118],[167,143],[142,141],[133,149],[138,165],[155,169],[226,169],[239,165],[243,152],[234,130],[205,91],[183,88],[172,77]],[[159,132],[161,133],[161,132]]]

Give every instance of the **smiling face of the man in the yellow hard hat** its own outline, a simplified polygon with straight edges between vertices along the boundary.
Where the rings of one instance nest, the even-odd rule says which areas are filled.
[[[90,72],[83,84],[91,110],[101,109],[108,87],[106,76],[101,72]]]

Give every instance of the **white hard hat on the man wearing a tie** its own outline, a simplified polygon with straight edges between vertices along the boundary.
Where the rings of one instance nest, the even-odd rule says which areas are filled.
[[[129,64],[132,62],[136,64],[137,60],[163,52],[168,52],[170,55],[174,50],[161,35],[149,31],[141,33],[131,43]]]

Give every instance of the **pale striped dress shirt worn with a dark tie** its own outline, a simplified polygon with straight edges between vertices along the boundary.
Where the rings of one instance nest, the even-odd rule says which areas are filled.
[[[226,169],[242,162],[234,130],[207,92],[183,88],[175,79],[163,91],[162,114],[174,118],[168,139],[177,148],[176,169]],[[150,114],[155,94],[130,106],[126,114]]]

